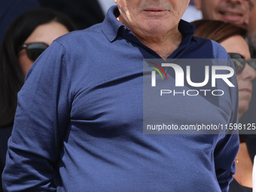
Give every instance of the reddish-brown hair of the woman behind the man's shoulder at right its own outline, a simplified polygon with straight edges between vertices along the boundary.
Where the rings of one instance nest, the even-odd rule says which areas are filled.
[[[241,35],[245,38],[247,33],[241,26],[236,26],[233,23],[224,23],[220,20],[195,20],[191,23],[196,26],[194,36],[209,38],[218,43],[233,35]]]

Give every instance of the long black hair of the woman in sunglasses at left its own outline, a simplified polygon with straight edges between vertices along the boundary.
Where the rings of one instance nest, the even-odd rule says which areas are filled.
[[[18,58],[19,47],[37,26],[52,21],[66,26],[69,32],[76,29],[66,14],[48,8],[37,8],[17,17],[5,33],[0,53],[0,126],[13,123],[17,93],[24,84]]]

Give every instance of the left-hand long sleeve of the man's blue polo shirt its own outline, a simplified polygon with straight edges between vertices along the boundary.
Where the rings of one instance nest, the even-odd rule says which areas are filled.
[[[69,120],[65,49],[53,42],[33,64],[18,93],[14,130],[2,175],[5,191],[55,191],[59,138]]]

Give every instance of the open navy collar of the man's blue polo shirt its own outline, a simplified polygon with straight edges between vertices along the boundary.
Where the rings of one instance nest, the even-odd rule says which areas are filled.
[[[126,26],[117,20],[118,16],[119,11],[117,9],[117,5],[114,5],[108,9],[108,13],[102,23],[102,32],[104,33],[105,37],[108,38],[108,41],[114,41],[114,39],[117,38],[118,31],[123,28],[126,29]],[[181,20],[178,24],[178,29],[182,34],[181,45],[186,46],[193,38],[195,27],[193,24]],[[194,40],[196,41],[196,39]]]

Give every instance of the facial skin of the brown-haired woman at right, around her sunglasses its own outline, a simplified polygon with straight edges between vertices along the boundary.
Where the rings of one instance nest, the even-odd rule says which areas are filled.
[[[233,46],[236,44],[236,46]],[[239,53],[245,59],[251,59],[248,44],[240,35],[234,35],[221,42],[221,45],[227,50],[227,53]],[[239,88],[239,118],[248,110],[251,101],[252,84],[251,81],[256,78],[256,72],[248,64],[242,73],[236,75]]]

